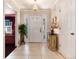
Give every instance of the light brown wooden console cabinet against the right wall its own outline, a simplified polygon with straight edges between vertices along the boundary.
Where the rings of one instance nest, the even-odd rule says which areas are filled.
[[[57,51],[58,49],[58,39],[57,39],[57,35],[49,35],[48,37],[48,48],[52,51]]]

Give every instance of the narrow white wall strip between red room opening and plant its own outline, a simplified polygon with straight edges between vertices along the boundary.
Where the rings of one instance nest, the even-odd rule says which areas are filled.
[[[20,25],[20,9],[17,10],[17,13],[16,13],[16,19],[15,19],[15,45],[16,46],[19,46],[19,40],[20,40],[20,34],[19,34],[19,31],[18,31],[18,27]]]

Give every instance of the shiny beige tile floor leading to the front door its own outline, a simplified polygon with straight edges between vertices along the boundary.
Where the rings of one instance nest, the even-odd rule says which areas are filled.
[[[64,59],[48,49],[46,43],[27,43],[16,48],[6,59]]]

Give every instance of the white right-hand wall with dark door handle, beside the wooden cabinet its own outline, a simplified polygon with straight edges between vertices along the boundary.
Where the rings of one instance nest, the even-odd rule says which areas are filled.
[[[75,0],[61,0],[52,11],[60,20],[59,52],[66,59],[75,59],[75,34],[70,34],[75,33]]]

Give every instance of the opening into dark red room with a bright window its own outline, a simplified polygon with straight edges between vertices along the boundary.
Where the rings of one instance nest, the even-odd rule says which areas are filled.
[[[15,49],[15,15],[5,15],[5,57]]]

